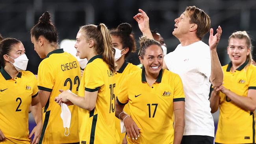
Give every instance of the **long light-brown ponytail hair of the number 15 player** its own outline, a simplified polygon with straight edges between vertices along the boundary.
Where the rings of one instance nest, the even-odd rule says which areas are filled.
[[[115,58],[113,53],[114,48],[111,44],[112,38],[106,25],[102,23],[98,26],[94,24],[89,24],[81,26],[80,30],[84,32],[87,41],[94,41],[96,53],[101,54],[103,57],[103,61],[108,64],[109,70],[111,70],[111,72],[115,72],[117,65],[115,64]]]

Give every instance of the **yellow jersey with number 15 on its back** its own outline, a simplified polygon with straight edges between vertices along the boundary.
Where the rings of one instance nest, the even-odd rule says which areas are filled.
[[[92,57],[83,72],[78,95],[98,90],[95,108],[79,111],[80,144],[117,144],[119,136],[115,129],[115,82],[114,74],[101,55]],[[85,96],[86,97],[86,96]]]

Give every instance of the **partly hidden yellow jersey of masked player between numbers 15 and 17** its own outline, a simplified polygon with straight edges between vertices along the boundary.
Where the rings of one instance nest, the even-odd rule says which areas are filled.
[[[121,66],[121,68],[117,72],[115,72],[115,81],[116,81],[115,91],[116,91],[116,93],[118,93],[119,86],[120,86],[121,82],[124,80],[124,78],[128,74],[131,74],[132,72],[135,72],[137,70],[141,70],[141,68],[124,61],[124,64]],[[124,106],[124,111],[125,111],[125,113],[130,114],[128,105]],[[119,138],[120,138],[119,144],[122,144],[122,139],[125,137],[125,133],[121,133],[119,118],[115,118],[115,127],[118,131]]]

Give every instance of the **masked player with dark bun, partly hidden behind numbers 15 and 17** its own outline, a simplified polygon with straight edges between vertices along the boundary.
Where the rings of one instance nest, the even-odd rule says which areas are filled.
[[[130,55],[131,52],[136,51],[135,38],[132,33],[132,26],[128,23],[122,23],[117,28],[110,30],[112,37],[112,44],[116,48],[115,57],[117,62],[118,71],[115,73],[115,92],[120,89],[121,81],[124,78],[137,70],[140,70],[138,66],[128,63],[125,58]],[[124,111],[129,113],[129,107],[126,105]],[[126,144],[125,133],[121,133],[120,120],[115,118],[115,127],[119,133],[120,144]]]

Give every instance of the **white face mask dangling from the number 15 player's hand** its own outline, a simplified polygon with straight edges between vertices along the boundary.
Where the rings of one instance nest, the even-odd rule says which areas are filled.
[[[70,113],[69,107],[65,103],[61,103],[61,114],[60,114],[60,117],[61,117],[61,119],[63,121],[63,127],[65,128],[64,135],[68,136],[69,133],[66,135],[66,127],[69,130],[70,122],[71,122],[71,113]]]

